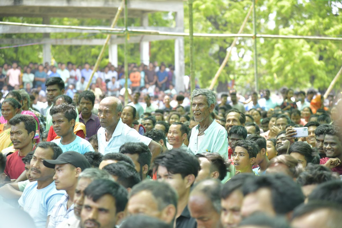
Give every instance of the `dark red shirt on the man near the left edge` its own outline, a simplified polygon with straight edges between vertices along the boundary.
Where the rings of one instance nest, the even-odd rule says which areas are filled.
[[[33,146],[32,151],[36,148]],[[19,151],[15,151],[11,155],[7,156],[6,167],[4,173],[10,177],[10,179],[17,179],[25,170],[25,164],[23,158],[25,156],[19,156]]]

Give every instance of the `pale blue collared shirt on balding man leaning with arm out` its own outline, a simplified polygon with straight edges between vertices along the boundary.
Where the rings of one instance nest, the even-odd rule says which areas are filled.
[[[108,142],[106,142],[105,133],[106,129],[102,127],[97,131],[98,152],[104,155],[107,153],[118,153],[120,146],[125,143],[142,142],[148,146],[152,141],[152,139],[139,134],[135,129],[124,124],[121,118]]]

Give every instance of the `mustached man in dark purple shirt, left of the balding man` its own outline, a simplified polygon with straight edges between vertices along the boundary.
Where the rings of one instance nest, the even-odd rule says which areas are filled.
[[[91,91],[83,91],[79,98],[81,113],[78,115],[80,122],[86,125],[86,137],[88,140],[91,136],[97,134],[97,130],[101,128],[100,119],[94,115],[91,110],[94,108],[95,95]]]

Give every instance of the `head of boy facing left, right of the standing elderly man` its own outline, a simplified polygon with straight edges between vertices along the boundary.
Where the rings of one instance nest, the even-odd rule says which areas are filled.
[[[258,147],[254,142],[239,140],[234,144],[234,166],[240,173],[253,173],[252,166],[258,154]]]

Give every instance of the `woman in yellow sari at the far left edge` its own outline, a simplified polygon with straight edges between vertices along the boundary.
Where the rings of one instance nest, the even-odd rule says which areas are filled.
[[[20,112],[21,104],[16,99],[6,98],[2,102],[1,113],[6,123],[0,124],[0,151],[13,145],[10,138],[11,124],[8,121]],[[9,152],[14,152],[14,150],[13,148],[13,151]]]

